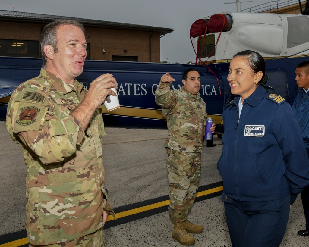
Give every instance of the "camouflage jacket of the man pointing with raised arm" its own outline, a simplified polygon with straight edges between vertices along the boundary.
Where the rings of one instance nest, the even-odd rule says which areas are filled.
[[[168,137],[164,147],[184,151],[202,152],[205,134],[206,104],[200,95],[181,89],[170,90],[171,82],[159,83],[155,102],[162,106],[167,119]]]

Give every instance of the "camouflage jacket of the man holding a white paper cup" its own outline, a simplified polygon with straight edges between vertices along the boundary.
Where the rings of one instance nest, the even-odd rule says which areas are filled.
[[[74,88],[75,87],[75,88]],[[95,232],[103,208],[111,212],[104,190],[100,109],[84,132],[70,112],[87,90],[41,69],[19,85],[7,109],[6,128],[21,143],[26,178],[28,241],[49,245]]]

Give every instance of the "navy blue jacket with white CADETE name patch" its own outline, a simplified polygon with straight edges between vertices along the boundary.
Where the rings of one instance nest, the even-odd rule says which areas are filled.
[[[222,155],[217,167],[224,194],[239,201],[260,202],[298,194],[309,184],[309,161],[291,106],[262,86],[243,102],[223,111]]]

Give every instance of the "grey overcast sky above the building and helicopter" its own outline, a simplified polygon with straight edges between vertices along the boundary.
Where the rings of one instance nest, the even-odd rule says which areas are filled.
[[[247,0],[241,0],[247,1]],[[223,11],[236,12],[235,0],[0,0],[0,10],[70,16],[172,28],[160,39],[161,61],[195,61],[189,39],[192,23]],[[270,0],[241,3],[241,9]]]

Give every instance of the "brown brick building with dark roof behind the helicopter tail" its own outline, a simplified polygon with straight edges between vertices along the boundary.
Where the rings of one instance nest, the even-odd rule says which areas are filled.
[[[87,59],[160,62],[160,37],[173,31],[91,19],[0,10],[0,56],[42,57],[40,33],[44,25],[59,19],[83,23]]]

